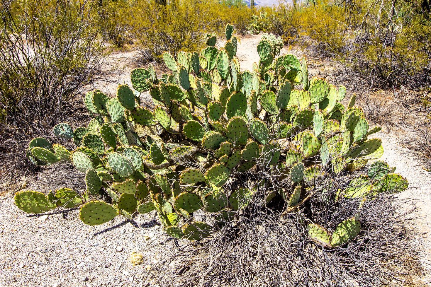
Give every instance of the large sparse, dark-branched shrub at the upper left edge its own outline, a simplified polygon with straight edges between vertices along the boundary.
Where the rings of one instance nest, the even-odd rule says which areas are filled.
[[[70,111],[102,61],[85,5],[16,0],[1,6],[0,108],[25,130],[52,127]]]

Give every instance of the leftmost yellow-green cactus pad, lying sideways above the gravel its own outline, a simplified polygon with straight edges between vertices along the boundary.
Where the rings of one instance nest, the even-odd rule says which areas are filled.
[[[16,206],[26,213],[44,213],[57,207],[39,191],[19,191],[14,199]]]

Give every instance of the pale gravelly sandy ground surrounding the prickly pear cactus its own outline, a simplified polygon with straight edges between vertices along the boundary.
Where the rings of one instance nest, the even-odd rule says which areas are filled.
[[[249,36],[240,40],[237,56],[241,70],[252,69],[258,59],[256,46],[259,36]],[[284,48],[282,54],[292,53],[302,56],[303,52]],[[109,69],[113,80],[130,84],[131,57],[134,52],[116,53],[110,63],[117,67],[115,74]],[[321,71],[310,68],[312,74]],[[116,92],[117,83],[98,86],[111,93]],[[424,245],[421,261],[431,274],[431,174],[420,166],[418,160],[403,148],[399,133],[380,132],[375,136],[383,140],[383,159],[410,182],[410,189],[401,197],[412,198],[418,203],[415,224],[420,241]],[[44,170],[43,180],[55,167]],[[59,179],[53,185],[41,186],[29,182],[29,188],[61,186],[61,178],[69,176],[68,170],[56,170]],[[14,191],[0,195],[0,286],[148,286],[151,277],[148,265],[133,266],[129,262],[130,253],[141,252],[146,262],[162,260],[162,248],[168,237],[164,235],[155,213],[139,215],[135,223],[117,217],[102,226],[88,227],[78,219],[78,210],[60,210],[53,213],[29,216],[15,207]],[[157,245],[159,250],[145,252],[148,245]],[[431,278],[423,278],[428,286]]]

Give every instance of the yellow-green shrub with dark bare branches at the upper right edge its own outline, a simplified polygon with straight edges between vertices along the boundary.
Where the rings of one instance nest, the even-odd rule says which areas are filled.
[[[419,11],[418,11],[419,10]],[[382,12],[384,11],[384,12]],[[384,1],[370,6],[348,65],[373,86],[430,83],[431,20],[415,2]]]

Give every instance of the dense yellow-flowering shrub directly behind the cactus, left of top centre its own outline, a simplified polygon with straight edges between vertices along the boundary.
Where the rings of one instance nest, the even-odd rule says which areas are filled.
[[[205,45],[205,35],[218,30],[222,20],[215,1],[173,0],[161,5],[138,0],[132,11],[136,44],[144,60],[161,59],[163,52],[195,51]]]

